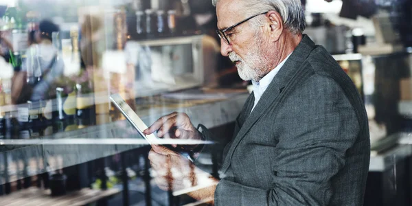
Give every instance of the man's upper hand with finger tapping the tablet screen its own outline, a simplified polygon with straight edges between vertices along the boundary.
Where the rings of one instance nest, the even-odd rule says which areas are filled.
[[[146,135],[150,135],[157,131],[157,137],[165,139],[194,139],[201,140],[201,134],[194,128],[190,122],[189,116],[185,113],[171,113],[157,119],[155,123],[143,131]],[[172,145],[176,148],[176,145]],[[193,148],[196,148],[194,146]],[[192,148],[186,148],[190,150]]]

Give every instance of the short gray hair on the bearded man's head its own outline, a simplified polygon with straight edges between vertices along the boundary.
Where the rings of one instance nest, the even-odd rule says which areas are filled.
[[[214,6],[220,0],[212,0]],[[284,20],[284,26],[293,34],[301,34],[306,29],[304,9],[300,0],[243,0],[246,13],[249,15],[275,10]],[[251,21],[254,25],[262,25],[263,19],[256,18]]]

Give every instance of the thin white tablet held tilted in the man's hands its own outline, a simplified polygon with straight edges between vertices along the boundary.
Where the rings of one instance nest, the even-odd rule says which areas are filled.
[[[155,135],[146,135],[143,133],[143,131],[146,130],[148,126],[146,126],[146,124],[141,121],[140,117],[135,113],[135,111],[133,111],[132,108],[130,108],[130,106],[128,106],[126,101],[124,101],[124,99],[119,94],[110,95],[110,100],[111,102],[113,102],[113,104],[115,104],[117,108],[119,108],[119,111],[122,112],[128,122],[130,122],[130,124],[132,124],[133,127],[136,128],[141,137],[146,139],[149,144],[156,144],[158,142],[159,139]]]

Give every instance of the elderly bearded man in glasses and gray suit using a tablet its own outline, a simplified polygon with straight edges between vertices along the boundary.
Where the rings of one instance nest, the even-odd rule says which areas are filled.
[[[302,34],[301,2],[214,4],[221,53],[253,82],[253,93],[225,148],[222,179],[190,195],[216,205],[363,205],[370,154],[363,101],[334,58]],[[145,133],[155,131],[209,138],[179,113],[161,117]],[[155,170],[167,166],[193,179],[194,172],[185,172],[191,163],[167,148],[153,146],[150,161]],[[174,172],[159,172],[157,182],[176,189],[170,187]]]

